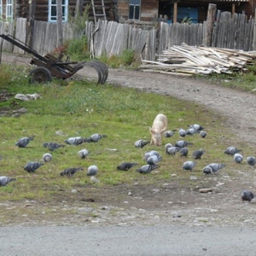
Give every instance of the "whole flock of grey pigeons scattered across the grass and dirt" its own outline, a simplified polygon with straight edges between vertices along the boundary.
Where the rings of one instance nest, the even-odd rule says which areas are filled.
[[[165,137],[172,137],[177,130],[173,131],[166,131],[165,132]],[[194,134],[199,134],[202,138],[207,137],[207,131],[204,131],[204,127],[201,125],[189,125],[189,129],[184,130],[184,129],[179,129],[178,135],[179,137],[186,137],[189,135],[194,135]],[[64,142],[69,144],[69,145],[80,145],[82,143],[97,143],[99,142],[103,137],[107,137],[106,135],[101,135],[99,133],[95,133],[91,135],[88,138],[84,137],[69,137],[67,138]],[[26,148],[27,144],[30,143],[34,138],[33,137],[22,137],[20,138],[15,145],[19,148]],[[147,140],[137,140],[135,142],[135,147],[136,148],[144,148],[150,141]],[[172,155],[174,156],[175,154],[179,153],[181,157],[187,157],[189,154],[189,145],[193,145],[193,143],[189,143],[185,140],[179,140],[177,141],[174,145],[172,143],[166,143],[165,149],[166,149],[166,154],[167,155]],[[49,151],[54,151],[58,148],[62,148],[65,145],[59,144],[59,143],[44,143],[43,144],[44,148],[49,149]],[[90,151],[87,149],[81,149],[79,150],[79,157],[80,158],[86,158],[89,154]],[[201,149],[196,149],[192,157],[195,160],[200,160],[202,155],[205,154],[205,150]],[[224,150],[224,154],[229,154],[233,156],[233,160],[241,164],[243,160],[243,156],[241,154],[241,149],[238,149],[236,147],[228,147]],[[43,155],[44,163],[49,162],[52,160],[52,154],[50,153],[45,153]],[[143,166],[140,166],[137,168],[137,172],[139,173],[144,173],[147,174],[149,172],[152,172],[154,169],[159,168],[159,162],[162,160],[162,156],[159,154],[158,151],[156,150],[150,150],[144,154],[143,160],[147,163]],[[43,162],[38,162],[38,161],[30,161],[24,166],[24,170],[26,172],[36,172],[36,170],[40,166],[44,166]],[[247,157],[247,164],[249,166],[254,166],[256,163],[256,158],[254,156],[248,156]],[[183,170],[185,171],[190,171],[192,172],[193,168],[196,166],[197,162],[194,160],[187,160],[183,162]],[[133,162],[123,162],[119,166],[117,166],[117,170],[119,171],[129,171],[132,167],[137,166],[137,163]],[[226,165],[225,164],[219,164],[219,163],[210,163],[207,166],[205,166],[202,169],[202,172],[205,173],[206,175],[209,174],[216,174],[218,171],[222,168],[224,168]],[[76,172],[82,171],[84,168],[82,167],[69,167],[63,172],[60,173],[61,176],[63,177],[73,177],[73,175]],[[92,177],[92,180],[95,179],[96,173],[98,172],[98,167],[97,166],[89,166],[87,170],[87,176]],[[8,183],[15,181],[16,179],[14,177],[7,177],[7,176],[0,176],[0,186],[5,186]],[[252,201],[253,200],[253,193],[249,190],[244,190],[241,193],[241,200],[242,201]]]

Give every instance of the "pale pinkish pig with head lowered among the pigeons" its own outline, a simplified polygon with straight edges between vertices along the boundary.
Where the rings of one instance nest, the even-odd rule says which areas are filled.
[[[153,122],[152,128],[149,127],[151,133],[151,145],[160,146],[162,144],[162,136],[167,129],[166,115],[159,113]]]

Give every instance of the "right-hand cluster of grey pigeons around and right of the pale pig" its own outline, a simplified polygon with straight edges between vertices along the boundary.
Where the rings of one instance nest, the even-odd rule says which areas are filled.
[[[173,131],[166,131],[165,137],[172,137],[177,130]],[[207,131],[204,131],[204,127],[201,125],[189,125],[189,129],[179,129],[178,135],[179,137],[186,137],[189,135],[199,134],[202,138],[207,137]],[[146,140],[138,140],[135,143],[136,148],[143,148],[146,146],[150,141]],[[189,143],[185,140],[179,140],[174,145],[172,143],[166,143],[166,154],[174,156],[175,154],[179,153],[182,157],[187,157],[189,154],[189,145],[193,145],[193,143]],[[205,153],[205,150],[196,149],[192,153],[192,158],[195,160],[200,160],[202,155]],[[243,160],[243,156],[241,154],[241,149],[238,149],[236,147],[230,146],[224,150],[224,154],[229,154],[233,156],[233,160],[241,164]],[[160,156],[158,151],[151,150],[145,153],[144,159],[147,162],[147,165],[141,166],[137,169],[137,172],[140,173],[149,173],[153,171],[154,169],[160,167],[160,165],[157,165],[160,160],[162,160],[162,156]],[[256,163],[256,158],[254,156],[248,156],[247,157],[247,164],[249,166],[254,166]],[[183,170],[192,172],[193,168],[196,166],[197,162],[194,160],[187,160],[183,162]],[[118,166],[119,170],[122,171],[128,171],[131,167],[137,166],[137,163],[130,163],[130,162],[124,162],[120,166]],[[202,169],[202,172],[206,175],[209,174],[216,174],[218,171],[222,168],[224,168],[226,165],[223,163],[210,163],[207,166],[204,166]],[[253,200],[253,193],[249,190],[244,190],[241,193],[241,201],[252,201]]]

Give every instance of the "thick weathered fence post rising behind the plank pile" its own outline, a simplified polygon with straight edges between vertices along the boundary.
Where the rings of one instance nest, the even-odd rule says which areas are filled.
[[[203,32],[202,44],[205,46],[211,46],[212,44],[212,32],[214,27],[215,15],[216,15],[217,5],[209,3],[207,12],[207,26],[206,31]]]

